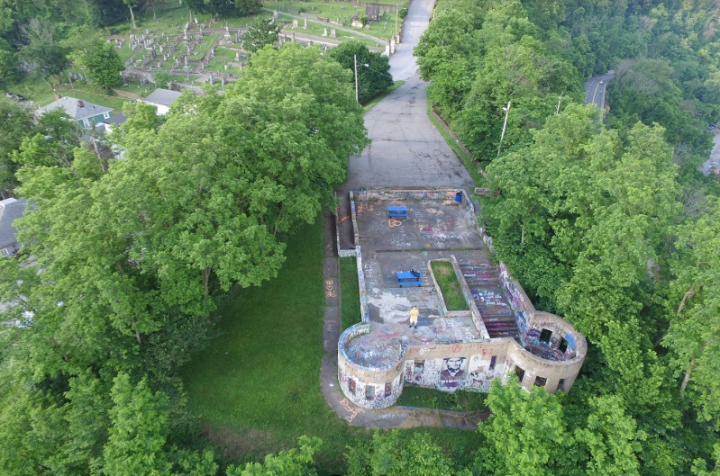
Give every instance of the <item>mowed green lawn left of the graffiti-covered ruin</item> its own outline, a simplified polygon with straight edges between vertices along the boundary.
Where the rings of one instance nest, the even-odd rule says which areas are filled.
[[[300,435],[318,436],[322,472],[341,472],[350,427],[320,393],[325,306],[322,220],[294,235],[277,278],[217,311],[224,335],[182,371],[190,409],[229,461],[260,460]]]

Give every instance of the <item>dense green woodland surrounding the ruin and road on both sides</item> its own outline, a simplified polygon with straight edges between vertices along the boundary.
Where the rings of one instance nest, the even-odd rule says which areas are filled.
[[[57,75],[162,3],[0,0],[0,82]],[[428,96],[499,192],[481,212],[498,258],[589,355],[568,395],[494,384],[469,454],[376,432],[347,448],[347,474],[720,474],[720,187],[698,171],[720,119],[719,14],[717,0],[439,0],[416,49]],[[316,438],[228,464],[179,369],[231,290],[277,275],[366,145],[341,66],[353,48],[340,63],[260,49],[223,95],[185,95],[164,119],[128,104],[108,138],[120,161],[0,98],[0,187],[32,202],[23,252],[0,260],[0,474],[323,472]],[[583,83],[608,70],[602,117]]]

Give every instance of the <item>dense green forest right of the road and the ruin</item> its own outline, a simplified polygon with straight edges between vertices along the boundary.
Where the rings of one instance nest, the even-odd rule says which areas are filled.
[[[441,1],[416,49],[436,111],[499,192],[481,213],[498,258],[591,343],[557,398],[563,424],[612,399],[642,435],[636,469],[598,474],[718,470],[720,189],[698,166],[720,118],[719,9]],[[582,84],[608,70],[603,123]]]

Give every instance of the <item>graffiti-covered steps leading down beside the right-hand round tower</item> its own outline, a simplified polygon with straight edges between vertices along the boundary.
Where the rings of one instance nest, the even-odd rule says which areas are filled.
[[[495,266],[460,265],[490,337],[519,339],[515,313],[500,288]]]

